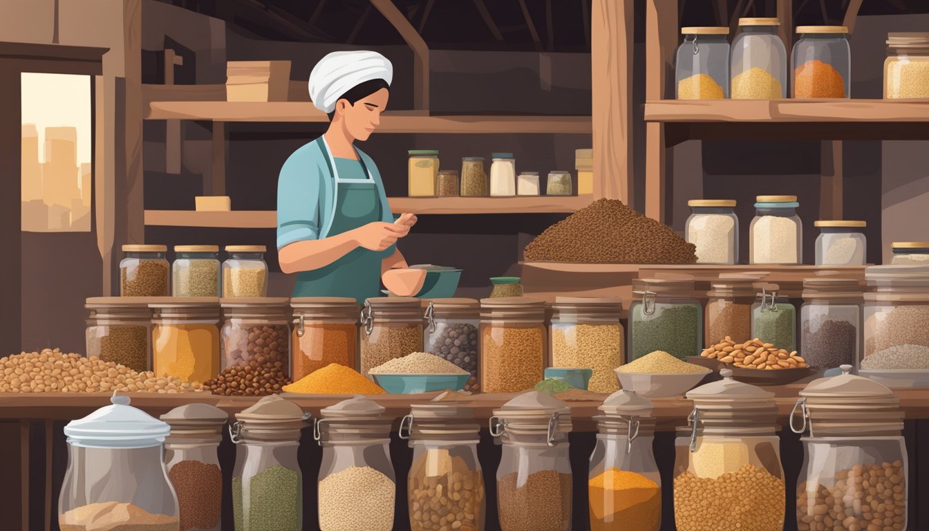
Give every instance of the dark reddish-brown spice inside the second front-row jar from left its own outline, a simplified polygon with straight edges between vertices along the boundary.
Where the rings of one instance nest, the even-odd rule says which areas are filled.
[[[222,509],[223,473],[217,465],[180,461],[168,471],[177,492],[180,531],[213,529]]]

